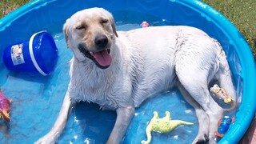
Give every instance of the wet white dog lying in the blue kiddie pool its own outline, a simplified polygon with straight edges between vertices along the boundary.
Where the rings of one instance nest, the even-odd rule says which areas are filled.
[[[194,143],[215,143],[214,131],[223,109],[211,98],[209,83],[218,80],[235,101],[226,54],[216,40],[189,26],[117,32],[112,15],[102,8],[78,11],[66,20],[63,30],[74,53],[70,84],[54,127],[38,143],[57,140],[70,107],[79,101],[116,110],[117,119],[107,143],[121,143],[135,107],[174,86],[198,116]]]

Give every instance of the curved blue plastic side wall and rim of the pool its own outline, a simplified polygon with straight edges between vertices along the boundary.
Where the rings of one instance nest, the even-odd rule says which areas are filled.
[[[50,34],[60,33],[66,18],[78,10],[94,6],[110,10],[116,21],[126,18],[132,22],[132,15],[127,14],[124,17],[119,15],[118,11],[133,11],[165,19],[175,25],[195,26],[218,39],[226,51],[238,95],[242,95],[239,97],[241,99],[238,98],[241,103],[236,121],[218,143],[237,143],[242,138],[255,114],[254,57],[242,34],[234,25],[218,11],[198,0],[34,0],[0,20],[0,57],[2,58],[3,49],[7,45],[22,42],[35,32],[47,30]],[[2,61],[0,67],[2,86],[9,72]]]

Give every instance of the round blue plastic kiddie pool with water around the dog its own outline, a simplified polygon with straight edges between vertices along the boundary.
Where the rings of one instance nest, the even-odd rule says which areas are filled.
[[[143,21],[150,26],[195,26],[218,39],[226,51],[234,76],[238,108],[228,113],[234,124],[218,143],[237,143],[245,134],[255,114],[256,73],[254,57],[242,34],[222,14],[198,0],[34,0],[0,20],[0,57],[12,43],[29,39],[47,30],[58,47],[58,62],[49,76],[6,70],[0,60],[0,86],[13,100],[11,122],[0,122],[1,143],[33,143],[54,125],[69,82],[71,50],[66,48],[62,26],[78,10],[103,7],[115,18],[118,30],[140,28]],[[151,98],[136,110],[123,143],[146,140],[146,125],[158,111],[166,110],[172,119],[193,122],[178,126],[169,134],[153,133],[152,143],[191,143],[198,133],[194,109],[178,90],[168,90]],[[95,104],[80,102],[72,112],[58,143],[105,143],[114,126],[114,111],[102,111]]]

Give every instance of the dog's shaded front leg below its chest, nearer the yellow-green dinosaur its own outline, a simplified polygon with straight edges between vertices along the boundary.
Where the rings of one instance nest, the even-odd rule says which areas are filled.
[[[122,142],[123,136],[126,134],[130,120],[134,117],[134,106],[118,108],[117,119],[114,123],[114,129],[110,134],[107,144],[119,144]]]

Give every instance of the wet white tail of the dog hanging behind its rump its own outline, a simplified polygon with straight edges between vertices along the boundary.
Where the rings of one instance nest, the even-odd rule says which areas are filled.
[[[225,51],[222,49],[222,46],[216,41],[219,53],[219,70],[218,70],[218,82],[224,90],[226,90],[226,94],[231,96],[231,106],[226,110],[233,110],[236,107],[236,92],[234,90],[234,84],[232,82],[232,75],[230,71],[230,66],[226,60]]]

